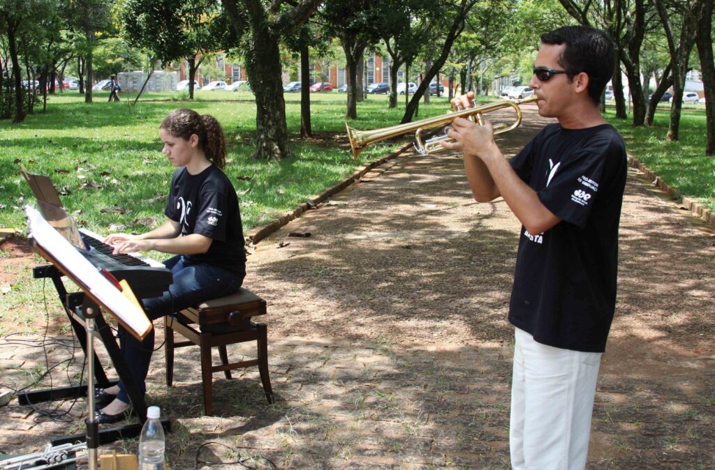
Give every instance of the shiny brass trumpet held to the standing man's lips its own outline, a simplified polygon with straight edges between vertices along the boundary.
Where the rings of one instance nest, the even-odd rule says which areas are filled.
[[[355,160],[358,159],[360,152],[365,149],[366,146],[370,144],[375,144],[385,139],[390,139],[391,137],[400,136],[402,134],[407,134],[408,132],[415,131],[415,150],[420,152],[420,154],[433,154],[438,151],[445,150],[440,142],[453,141],[448,136],[437,136],[432,139],[423,141],[422,133],[427,129],[433,129],[439,126],[447,126],[455,118],[462,117],[469,119],[470,121],[476,122],[480,126],[484,125],[483,115],[491,111],[498,111],[499,109],[513,108],[516,112],[516,119],[512,124],[500,123],[494,126],[494,134],[503,134],[504,132],[516,129],[519,124],[521,124],[521,108],[519,106],[525,103],[531,103],[536,101],[538,98],[536,95],[529,96],[525,99],[518,99],[515,101],[494,101],[493,103],[484,104],[482,106],[475,106],[473,108],[463,109],[461,111],[456,111],[454,113],[443,114],[441,116],[435,116],[428,119],[421,119],[420,121],[408,122],[407,124],[398,124],[397,126],[383,127],[382,129],[374,129],[372,131],[358,131],[352,129],[347,122],[345,123],[345,128],[347,129],[347,138],[350,139],[350,148],[352,149],[352,156]]]

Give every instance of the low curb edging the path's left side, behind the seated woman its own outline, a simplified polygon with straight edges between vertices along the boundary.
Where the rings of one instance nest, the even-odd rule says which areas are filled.
[[[350,186],[350,184],[360,180],[363,176],[365,176],[366,173],[368,173],[368,171],[374,169],[376,166],[384,164],[387,161],[395,159],[400,154],[402,154],[403,151],[410,149],[412,146],[413,144],[411,143],[405,144],[399,149],[393,151],[388,155],[383,156],[380,159],[370,161],[367,164],[358,167],[357,169],[355,169],[355,171],[352,172],[350,176],[347,176],[347,178],[345,178],[344,180],[330,186],[329,188],[325,189],[325,191],[322,191],[322,193],[317,194],[317,196],[312,196],[310,199],[307,199],[307,201],[298,204],[292,212],[288,212],[287,214],[279,217],[276,221],[273,221],[270,224],[253,227],[252,229],[247,231],[244,236],[246,243],[257,244],[259,241],[265,239],[267,236],[274,233],[288,222],[292,221],[293,219],[297,219],[310,209],[315,209],[318,204],[326,201],[333,194],[342,191],[343,189],[347,188],[347,186]]]

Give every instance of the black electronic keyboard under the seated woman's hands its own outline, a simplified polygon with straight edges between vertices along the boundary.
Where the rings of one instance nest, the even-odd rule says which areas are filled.
[[[161,296],[172,284],[172,271],[153,261],[154,266],[129,254],[112,254],[114,248],[102,243],[89,234],[82,233],[82,239],[92,247],[84,257],[97,269],[106,269],[117,279],[127,280],[138,299]]]

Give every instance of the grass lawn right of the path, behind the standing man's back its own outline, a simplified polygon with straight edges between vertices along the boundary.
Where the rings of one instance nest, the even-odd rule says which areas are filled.
[[[715,211],[715,157],[705,155],[704,106],[683,111],[680,141],[666,139],[670,124],[668,108],[656,112],[652,127],[633,127],[631,119],[616,119],[615,111],[607,111],[606,119],[616,126],[626,141],[626,150],[636,159],[655,171],[681,196],[692,196]]]

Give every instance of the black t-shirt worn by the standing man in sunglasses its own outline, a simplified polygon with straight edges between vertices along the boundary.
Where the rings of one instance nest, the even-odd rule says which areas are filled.
[[[603,352],[616,308],[623,140],[608,124],[551,124],[510,163],[563,220],[543,234],[521,227],[509,321],[548,346]]]

